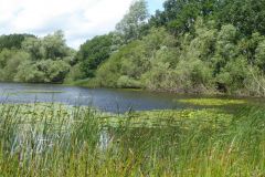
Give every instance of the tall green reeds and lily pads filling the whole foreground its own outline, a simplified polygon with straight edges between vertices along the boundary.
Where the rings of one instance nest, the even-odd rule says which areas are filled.
[[[0,106],[0,176],[265,176],[265,111]]]

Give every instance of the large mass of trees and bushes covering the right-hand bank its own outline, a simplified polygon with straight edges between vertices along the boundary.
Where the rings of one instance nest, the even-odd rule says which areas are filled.
[[[89,82],[180,93],[264,95],[264,4],[168,0],[163,11],[142,24],[141,34],[120,45]],[[125,19],[131,11],[146,17],[146,11],[130,8]]]

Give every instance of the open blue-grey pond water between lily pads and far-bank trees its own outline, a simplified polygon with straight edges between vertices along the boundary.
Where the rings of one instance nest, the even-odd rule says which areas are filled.
[[[55,84],[0,83],[1,103],[56,102],[68,105],[89,105],[115,113],[129,110],[187,108],[188,105],[178,102],[178,100],[189,97],[194,96]]]

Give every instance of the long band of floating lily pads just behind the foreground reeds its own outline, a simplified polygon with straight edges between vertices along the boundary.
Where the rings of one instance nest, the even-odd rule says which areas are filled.
[[[18,110],[17,110],[18,108]],[[73,119],[73,113],[78,111],[78,114],[86,114],[86,110],[93,111],[97,115],[98,123],[102,126],[129,126],[129,127],[165,127],[176,126],[179,122],[230,122],[232,115],[218,108],[204,108],[204,110],[165,110],[165,111],[145,111],[132,112],[121,115],[102,113],[92,107],[81,106],[74,107],[60,103],[35,103],[35,104],[2,104],[0,105],[0,112],[2,115],[15,111],[17,115],[23,117],[23,119],[31,121],[43,119],[43,117],[57,117],[55,121],[64,117]]]

